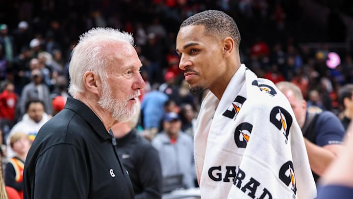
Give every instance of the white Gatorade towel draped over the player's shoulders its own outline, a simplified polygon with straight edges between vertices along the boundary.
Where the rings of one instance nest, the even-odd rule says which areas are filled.
[[[206,95],[195,131],[202,199],[316,197],[303,135],[288,100],[244,64],[220,101],[212,92]]]

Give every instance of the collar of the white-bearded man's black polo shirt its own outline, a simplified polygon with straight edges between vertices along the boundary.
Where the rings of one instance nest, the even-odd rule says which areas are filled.
[[[111,138],[101,119],[83,102],[68,97],[64,109],[70,109],[81,116],[102,139],[108,140]]]

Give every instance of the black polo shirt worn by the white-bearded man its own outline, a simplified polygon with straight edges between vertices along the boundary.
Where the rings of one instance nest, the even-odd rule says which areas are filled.
[[[133,199],[127,171],[103,123],[82,102],[39,130],[24,171],[25,199]]]

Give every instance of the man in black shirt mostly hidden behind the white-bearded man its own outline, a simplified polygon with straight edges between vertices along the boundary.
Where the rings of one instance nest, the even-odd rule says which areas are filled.
[[[140,103],[138,110],[140,110]],[[111,131],[116,138],[120,160],[129,172],[135,199],[162,198],[162,171],[158,152],[135,129],[140,112],[130,121],[115,124]]]

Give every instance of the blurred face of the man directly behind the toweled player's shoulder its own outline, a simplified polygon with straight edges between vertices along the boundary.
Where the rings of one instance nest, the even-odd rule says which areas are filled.
[[[305,100],[299,100],[293,91],[291,90],[286,90],[283,92],[283,94],[286,96],[288,99],[293,112],[296,116],[297,122],[300,127],[303,127],[304,122],[305,122],[305,114],[306,114],[306,102]]]

